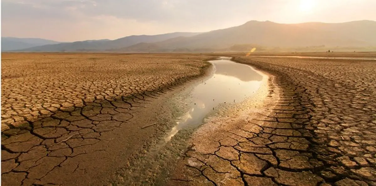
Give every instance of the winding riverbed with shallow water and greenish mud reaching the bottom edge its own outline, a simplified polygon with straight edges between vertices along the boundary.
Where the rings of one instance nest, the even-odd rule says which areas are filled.
[[[209,77],[169,99],[169,105],[176,105],[173,108],[183,112],[176,115],[180,116],[176,120],[165,121],[173,128],[164,138],[118,172],[118,184],[168,184],[197,127],[203,124],[198,131],[215,135],[215,131],[207,130],[208,126],[213,129],[221,124],[213,126],[212,121],[227,123],[229,113],[244,115],[256,112],[257,104],[261,107],[260,103],[268,95],[265,74],[230,58],[222,57],[211,63],[213,73]]]

